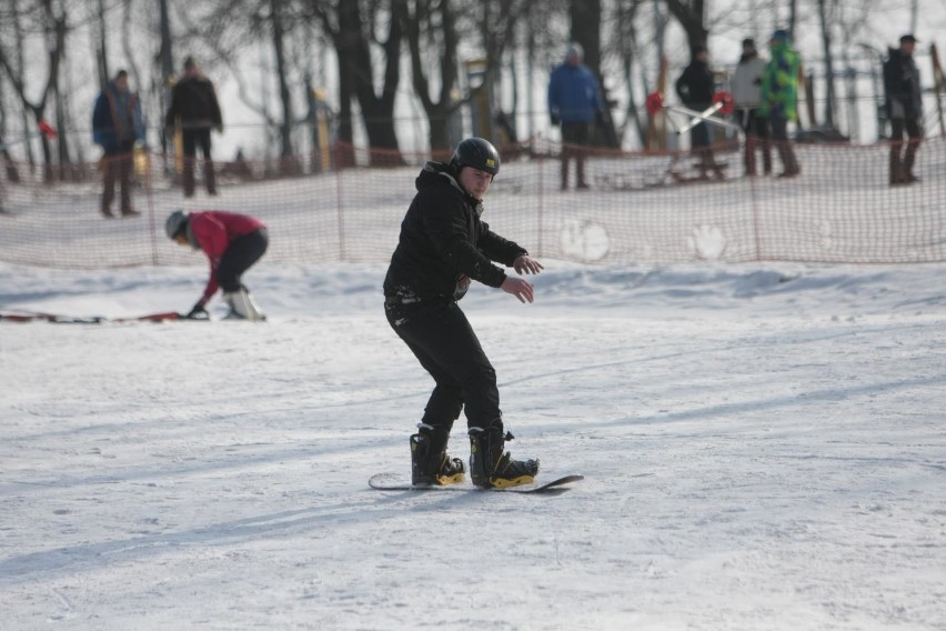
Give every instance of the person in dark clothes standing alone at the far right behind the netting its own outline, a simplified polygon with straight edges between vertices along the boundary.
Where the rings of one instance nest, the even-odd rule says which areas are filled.
[[[898,49],[889,49],[884,62],[885,108],[890,121],[890,180],[892,187],[918,181],[913,174],[916,152],[923,141],[923,99],[919,70],[913,59],[916,38],[900,38]],[[904,132],[909,138],[904,151]]]

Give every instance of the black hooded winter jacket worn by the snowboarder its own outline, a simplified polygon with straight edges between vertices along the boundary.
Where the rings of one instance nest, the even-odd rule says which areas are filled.
[[[482,202],[463,191],[447,164],[427,162],[416,187],[384,279],[385,300],[460,300],[470,280],[503,284],[505,271],[491,261],[512,266],[527,252],[490,231],[480,220]]]

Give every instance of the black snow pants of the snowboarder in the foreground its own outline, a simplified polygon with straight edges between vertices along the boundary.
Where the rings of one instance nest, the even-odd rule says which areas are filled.
[[[464,407],[470,428],[487,428],[502,420],[496,371],[456,302],[388,301],[384,312],[436,383],[422,422],[450,431]]]

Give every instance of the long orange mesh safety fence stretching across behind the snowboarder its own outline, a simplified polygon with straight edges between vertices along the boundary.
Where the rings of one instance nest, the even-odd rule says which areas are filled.
[[[561,148],[503,148],[485,200],[494,231],[535,256],[600,263],[946,261],[946,139],[926,139],[919,182],[888,184],[888,144],[795,143],[802,173],[747,178],[743,146],[715,148],[718,170],[687,153],[594,152],[590,188],[561,189]],[[515,150],[514,150],[515,149]],[[97,164],[72,166],[74,181],[49,183],[41,169],[0,169],[0,261],[56,268],[203,264],[170,242],[174,209],[230,210],[270,228],[269,262],[386,261],[414,194],[423,154],[369,154],[346,146],[325,160],[215,163],[219,193],[184,198],[180,174],[160,156],[139,154],[131,204],[140,214],[105,219]],[[344,160],[338,159],[344,154]],[[773,160],[777,173],[777,152]],[[366,164],[371,164],[370,167]],[[759,169],[761,169],[759,158]],[[574,184],[574,164],[571,183]],[[112,211],[120,211],[115,192]]]

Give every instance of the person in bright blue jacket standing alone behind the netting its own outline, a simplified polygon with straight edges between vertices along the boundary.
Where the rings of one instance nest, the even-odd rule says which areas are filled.
[[[576,188],[587,189],[585,147],[591,144],[592,126],[604,114],[601,88],[592,71],[582,63],[584,49],[572,42],[565,62],[549,80],[549,113],[552,124],[562,126],[562,190],[568,189],[568,161],[575,159]]]

